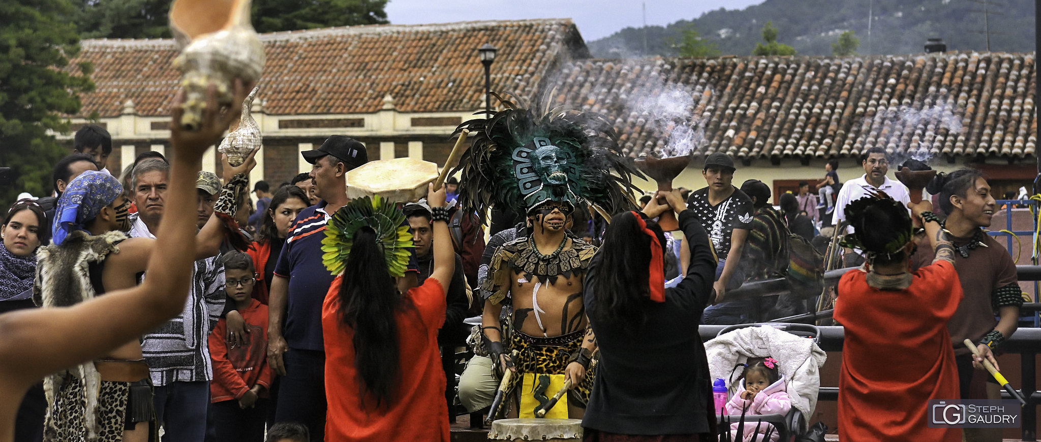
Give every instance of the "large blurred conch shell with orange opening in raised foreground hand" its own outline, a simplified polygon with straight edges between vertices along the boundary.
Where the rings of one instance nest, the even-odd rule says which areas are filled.
[[[256,81],[263,71],[263,45],[250,24],[250,0],[174,0],[170,29],[181,48],[174,67],[183,74],[184,114],[178,124],[197,130],[206,107],[206,89],[230,105],[232,81]]]

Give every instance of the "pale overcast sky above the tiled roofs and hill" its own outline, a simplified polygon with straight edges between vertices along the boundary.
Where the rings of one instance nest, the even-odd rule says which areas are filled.
[[[763,0],[648,0],[646,23],[667,25],[726,7],[741,9]],[[390,0],[386,12],[399,25],[473,20],[575,20],[586,42],[643,23],[640,0]]]

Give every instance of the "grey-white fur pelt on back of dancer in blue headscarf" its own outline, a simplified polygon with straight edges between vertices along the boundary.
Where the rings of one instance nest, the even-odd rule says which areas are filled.
[[[98,236],[83,231],[71,233],[61,245],[47,245],[36,252],[36,280],[33,284],[32,301],[36,306],[69,307],[93,298],[97,293],[91,284],[92,262],[101,262],[108,254],[119,253],[119,243],[127,239],[123,232],[108,232]],[[54,407],[54,396],[61,390],[68,374],[83,383],[86,392],[86,410],[83,413],[85,426],[90,431],[87,439],[93,439],[100,431],[96,416],[98,394],[101,391],[101,374],[94,362],[85,362],[76,367],[53,373],[44,379],[47,395],[47,422]]]

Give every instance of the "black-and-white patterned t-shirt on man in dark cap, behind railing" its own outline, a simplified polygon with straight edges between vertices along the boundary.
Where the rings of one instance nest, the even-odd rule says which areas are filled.
[[[727,259],[730,253],[730,236],[734,229],[748,230],[756,213],[752,199],[738,188],[715,206],[709,204],[708,187],[694,190],[687,199],[687,208],[694,212],[702,228],[709,233],[719,259]]]

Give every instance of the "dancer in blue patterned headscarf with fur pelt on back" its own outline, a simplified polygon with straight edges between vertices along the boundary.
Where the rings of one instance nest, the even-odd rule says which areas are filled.
[[[226,193],[219,205],[232,207],[234,192]],[[69,307],[137,285],[155,241],[128,239],[129,206],[110,175],[85,172],[69,183],[55,208],[53,244],[40,251],[37,305]],[[217,250],[224,238],[222,225],[217,216],[210,219],[197,253]],[[50,375],[44,387],[49,404],[45,441],[156,440],[149,366],[137,340]]]

